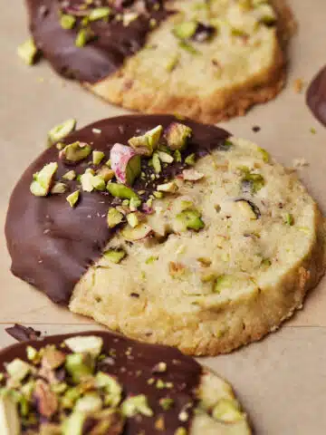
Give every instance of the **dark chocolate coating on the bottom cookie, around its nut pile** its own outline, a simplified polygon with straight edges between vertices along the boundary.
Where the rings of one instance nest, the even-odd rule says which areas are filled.
[[[33,346],[36,350],[47,344],[60,346],[65,339],[76,335],[97,335],[102,338],[103,359],[97,362],[95,372],[101,371],[114,376],[123,389],[123,399],[139,394],[147,397],[153,416],[144,417],[139,414],[128,418],[121,435],[135,435],[143,433],[142,431],[147,434],[157,433],[155,424],[158,418],[162,417],[164,433],[167,435],[174,435],[179,427],[187,430],[190,428],[194,407],[197,405],[196,390],[200,385],[202,368],[192,358],[168,346],[139,343],[113,333],[53,335],[43,340],[14,344],[1,351],[1,371],[5,371],[5,362],[10,362],[14,358],[26,361],[27,345]],[[60,348],[60,350],[69,353],[68,348]],[[159,362],[165,362],[164,372],[156,372],[155,367]],[[149,379],[153,379],[154,382],[149,382]],[[168,383],[170,388],[158,388],[158,379]],[[159,401],[166,397],[173,400],[173,406],[163,410]],[[187,410],[188,418],[181,421],[179,414],[184,410]]]

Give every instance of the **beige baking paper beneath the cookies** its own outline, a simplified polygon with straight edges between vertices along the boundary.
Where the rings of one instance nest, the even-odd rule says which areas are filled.
[[[2,0],[0,14],[0,345],[12,343],[5,326],[34,325],[47,333],[96,328],[60,309],[9,272],[3,227],[8,199],[27,165],[44,149],[46,132],[74,117],[79,126],[123,111],[64,82],[42,62],[33,68],[16,56],[27,37],[24,2]],[[292,82],[309,82],[326,63],[326,1],[292,0],[300,24],[292,41],[288,85],[273,102],[225,123],[235,135],[256,140],[283,164],[304,158],[301,176],[326,213],[326,128],[314,121],[304,93]],[[261,131],[254,133],[258,125]],[[312,134],[311,129],[316,130]],[[35,243],[37,241],[35,240]],[[201,359],[225,376],[250,413],[257,434],[326,433],[326,279],[308,296],[302,312],[279,332],[230,355]],[[203,434],[205,435],[205,434]]]

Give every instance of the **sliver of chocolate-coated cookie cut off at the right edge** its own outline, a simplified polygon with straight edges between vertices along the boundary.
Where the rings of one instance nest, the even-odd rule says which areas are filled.
[[[317,120],[326,126],[326,66],[312,80],[306,102]]]

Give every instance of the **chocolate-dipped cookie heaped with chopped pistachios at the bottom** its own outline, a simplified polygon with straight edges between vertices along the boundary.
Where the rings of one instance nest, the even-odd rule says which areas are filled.
[[[112,333],[0,352],[2,435],[252,433],[231,386],[177,349]]]

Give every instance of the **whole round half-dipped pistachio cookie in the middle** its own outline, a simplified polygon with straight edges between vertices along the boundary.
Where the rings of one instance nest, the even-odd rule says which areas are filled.
[[[258,340],[302,307],[325,270],[324,219],[266,150],[167,115],[62,138],[73,128],[51,131],[59,143],[14,188],[14,275],[73,313],[197,355]]]

